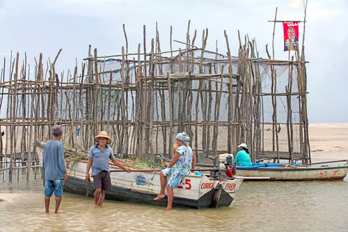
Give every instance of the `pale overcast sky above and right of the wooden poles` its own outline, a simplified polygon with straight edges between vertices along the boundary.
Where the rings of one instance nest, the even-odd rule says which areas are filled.
[[[147,41],[155,37],[158,23],[161,50],[169,47],[170,26],[173,39],[186,41],[187,23],[191,20],[191,38],[198,31],[195,45],[200,47],[202,31],[207,28],[207,49],[226,54],[223,31],[226,30],[237,56],[237,30],[242,39],[255,38],[262,58],[265,45],[271,47],[274,15],[277,20],[303,20],[303,10],[287,5],[287,0],[221,0],[221,1],[155,1],[155,0],[0,0],[0,67],[10,52],[20,53],[33,69],[34,57],[40,52],[44,61],[56,62],[56,71],[72,70],[88,56],[88,45],[98,55],[120,54],[125,46],[122,24],[125,24],[129,52],[137,52],[143,43],[143,25]],[[348,1],[308,0],[306,23],[306,61],[308,75],[308,117],[310,123],[348,123]],[[300,24],[300,41],[303,24]],[[275,58],[287,60],[283,52],[283,25],[276,24]],[[184,47],[173,43],[173,47]],[[0,70],[1,70],[0,68]],[[81,69],[81,68],[80,68]],[[81,70],[79,71],[81,72]],[[31,72],[31,75],[33,73]]]

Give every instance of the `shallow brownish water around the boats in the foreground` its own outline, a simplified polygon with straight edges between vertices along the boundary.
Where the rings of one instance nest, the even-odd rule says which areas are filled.
[[[45,213],[40,176],[0,175],[0,231],[348,231],[348,178],[244,182],[230,207],[196,210],[105,201],[65,192]]]

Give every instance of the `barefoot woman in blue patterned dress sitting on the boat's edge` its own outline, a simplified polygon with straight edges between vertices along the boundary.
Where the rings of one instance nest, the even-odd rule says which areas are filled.
[[[173,189],[180,185],[182,178],[189,174],[191,167],[196,166],[196,155],[193,154],[189,146],[190,137],[186,132],[177,134],[176,144],[178,148],[175,150],[173,159],[168,167],[159,174],[161,180],[161,190],[154,200],[164,198],[164,187],[167,190],[168,204],[166,210],[171,210],[174,199]],[[174,147],[174,146],[173,146]],[[166,176],[170,176],[168,185],[166,186]]]

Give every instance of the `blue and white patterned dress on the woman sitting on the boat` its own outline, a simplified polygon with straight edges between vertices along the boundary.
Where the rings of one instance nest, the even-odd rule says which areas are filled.
[[[176,149],[176,152],[180,153],[176,164],[162,170],[164,176],[170,176],[168,186],[173,188],[179,186],[182,178],[190,172],[193,157],[190,146],[180,146]]]

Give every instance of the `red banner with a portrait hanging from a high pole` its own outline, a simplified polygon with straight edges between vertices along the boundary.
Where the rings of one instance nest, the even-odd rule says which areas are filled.
[[[296,50],[296,42],[299,42],[299,22],[283,22],[284,51]]]

